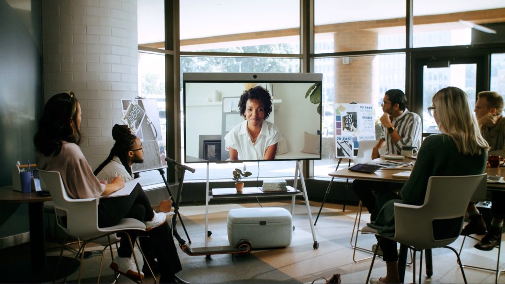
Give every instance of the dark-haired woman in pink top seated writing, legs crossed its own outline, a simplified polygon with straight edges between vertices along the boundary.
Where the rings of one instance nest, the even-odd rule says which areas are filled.
[[[99,198],[124,187],[123,177],[118,175],[108,184],[102,184],[91,171],[79,148],[81,133],[81,106],[73,92],[53,96],[44,107],[38,131],[33,142],[37,151],[37,167],[41,170],[60,172],[67,194],[73,199]],[[135,186],[129,196],[101,199],[98,204],[98,226],[116,225],[123,218],[143,221],[146,230],[165,223],[166,214],[156,213],[140,186]],[[129,231],[132,242],[137,230]],[[111,264],[116,272],[133,279],[143,278],[132,259],[128,238],[121,238],[118,256]]]

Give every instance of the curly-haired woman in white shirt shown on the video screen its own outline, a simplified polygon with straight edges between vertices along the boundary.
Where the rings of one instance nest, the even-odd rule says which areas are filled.
[[[244,121],[224,137],[230,160],[273,160],[282,135],[277,126],[266,121],[272,112],[268,90],[262,86],[245,90],[238,108]]]

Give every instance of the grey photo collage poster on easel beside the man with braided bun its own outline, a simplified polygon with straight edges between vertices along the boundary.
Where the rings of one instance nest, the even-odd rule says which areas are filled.
[[[166,151],[160,125],[160,113],[154,99],[121,100],[121,121],[142,141],[144,162],[133,164],[132,172],[160,169],[167,166]]]

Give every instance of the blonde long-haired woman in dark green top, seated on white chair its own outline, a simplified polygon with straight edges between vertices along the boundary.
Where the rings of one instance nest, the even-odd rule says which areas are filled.
[[[435,93],[428,112],[435,118],[439,134],[426,137],[410,178],[401,188],[401,197],[392,191],[377,191],[377,219],[369,224],[382,236],[394,235],[394,202],[422,205],[430,176],[481,174],[486,168],[486,140],[482,137],[472,113],[467,94],[457,87],[446,87]],[[371,278],[370,283],[399,283],[396,242],[381,241],[386,276]]]

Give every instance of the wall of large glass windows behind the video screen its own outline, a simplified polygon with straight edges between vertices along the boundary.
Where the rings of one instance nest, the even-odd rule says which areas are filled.
[[[138,1],[139,95],[159,100],[162,127],[167,122],[165,101],[160,96],[165,72],[160,69],[165,68],[167,55],[164,52],[170,54],[164,51],[164,2]],[[406,82],[406,70],[413,70],[406,66],[409,60],[405,54],[409,54],[409,50],[414,54],[418,48],[429,51],[430,48],[436,50],[437,46],[468,45],[471,52],[475,44],[505,41],[499,32],[505,26],[502,0],[462,0],[457,5],[451,0],[414,0],[412,49],[406,46],[406,0],[313,0],[313,3],[315,42],[314,55],[309,56],[314,57],[314,66],[311,66],[314,72],[323,73],[324,80],[323,159],[314,162],[314,173],[319,177],[328,177],[337,163],[333,145],[334,103],[371,103],[380,113],[379,100],[387,89],[405,90],[406,85],[413,84],[413,81]],[[299,0],[185,0],[179,5],[179,30],[175,34],[180,36],[181,73],[300,72],[299,59],[304,57],[301,50],[310,50],[300,48],[300,37],[304,35],[300,35]],[[498,32],[495,34],[493,30]],[[505,96],[505,51],[494,49],[493,52],[490,89]],[[437,88],[457,85],[453,82],[455,78],[465,80],[460,85],[475,97],[477,89],[469,81],[470,74],[475,74],[474,69],[473,65],[451,65],[446,70],[424,69],[426,93],[423,99],[429,101],[429,93]],[[416,74],[410,75],[414,78]],[[180,78],[182,80],[182,74]],[[423,94],[408,93],[413,102],[419,96]],[[420,108],[420,104],[416,108]],[[434,127],[429,117],[425,117],[424,122],[425,127]],[[181,148],[183,146],[181,141]],[[207,165],[193,165],[197,172],[187,174],[186,179],[205,178]],[[211,164],[210,177],[229,180],[231,170],[241,166]],[[246,166],[259,177],[291,177],[295,164],[261,162]],[[256,167],[261,171],[255,170]],[[156,171],[153,176],[159,173]]]

